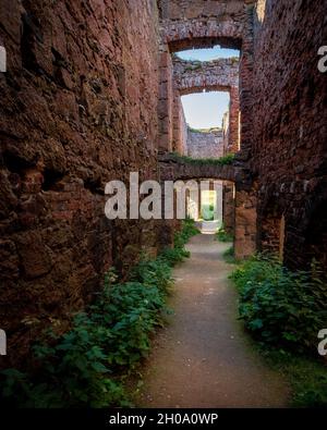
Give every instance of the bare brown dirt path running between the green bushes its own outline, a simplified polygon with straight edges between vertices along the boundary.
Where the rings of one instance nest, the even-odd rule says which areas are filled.
[[[229,245],[198,235],[174,270],[174,315],[145,366],[142,407],[282,407],[288,388],[252,351],[237,320],[237,294],[222,259]]]

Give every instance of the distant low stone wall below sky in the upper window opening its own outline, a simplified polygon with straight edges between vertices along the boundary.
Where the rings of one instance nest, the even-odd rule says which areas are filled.
[[[222,131],[194,132],[189,128],[187,156],[193,158],[219,158],[223,156]]]

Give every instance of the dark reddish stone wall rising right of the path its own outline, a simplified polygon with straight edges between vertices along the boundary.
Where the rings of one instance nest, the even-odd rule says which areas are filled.
[[[290,267],[303,268],[312,257],[326,261],[327,255],[327,75],[317,69],[318,48],[327,40],[326,7],[261,0],[254,13],[253,171],[261,244],[278,248],[283,216]]]

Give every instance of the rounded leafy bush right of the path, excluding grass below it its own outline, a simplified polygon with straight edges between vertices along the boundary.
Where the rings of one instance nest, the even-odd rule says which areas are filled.
[[[327,321],[327,283],[316,267],[292,272],[276,258],[258,255],[231,278],[240,292],[240,317],[258,340],[298,352],[316,348]]]

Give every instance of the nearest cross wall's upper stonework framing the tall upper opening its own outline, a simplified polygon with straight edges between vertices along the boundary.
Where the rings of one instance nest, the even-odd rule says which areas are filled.
[[[252,146],[252,67],[253,67],[253,1],[168,1],[160,0],[160,40],[162,53],[162,82],[169,82],[172,52],[191,48],[209,48],[215,45],[241,49],[240,109],[244,125],[241,131],[243,159],[250,159]],[[159,111],[167,119],[161,131],[162,150],[170,150],[171,110],[169,87],[162,86]],[[232,96],[233,97],[233,96]],[[239,116],[233,124],[238,126]],[[239,139],[238,139],[239,143]],[[239,145],[238,148],[239,149]],[[235,150],[235,149],[233,149]]]

